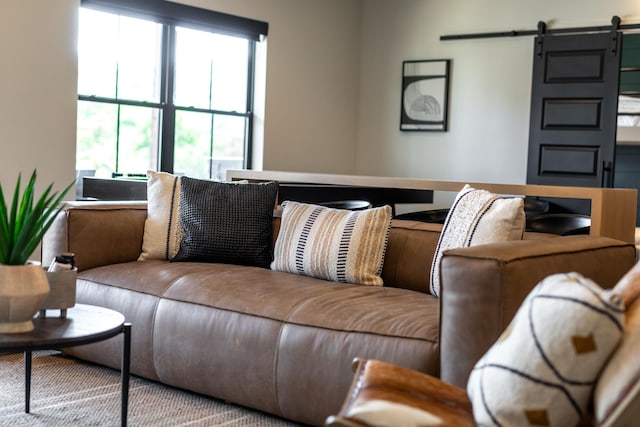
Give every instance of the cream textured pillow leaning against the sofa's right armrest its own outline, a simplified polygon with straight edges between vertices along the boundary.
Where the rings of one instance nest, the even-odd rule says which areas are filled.
[[[431,264],[431,293],[440,296],[440,261],[444,251],[520,240],[525,222],[521,198],[501,198],[465,185],[457,194],[440,233]]]

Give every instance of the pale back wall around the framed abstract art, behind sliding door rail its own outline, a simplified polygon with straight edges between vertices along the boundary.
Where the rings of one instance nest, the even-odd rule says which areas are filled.
[[[526,181],[533,37],[441,35],[640,22],[637,0],[364,0],[359,174]],[[401,132],[402,61],[452,59],[450,130]]]

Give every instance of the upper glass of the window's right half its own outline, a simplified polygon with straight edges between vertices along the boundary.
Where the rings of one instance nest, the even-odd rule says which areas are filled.
[[[176,28],[176,105],[247,111],[249,42]]]

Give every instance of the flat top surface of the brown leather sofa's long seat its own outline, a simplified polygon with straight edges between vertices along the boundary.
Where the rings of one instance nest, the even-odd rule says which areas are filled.
[[[161,260],[98,267],[78,277],[281,322],[438,341],[438,300],[401,288],[335,283],[260,267]]]

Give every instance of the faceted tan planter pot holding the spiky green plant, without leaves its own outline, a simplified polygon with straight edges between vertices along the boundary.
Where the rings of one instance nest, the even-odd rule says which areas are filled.
[[[49,282],[40,265],[0,265],[0,333],[32,331],[33,316],[48,295]]]

